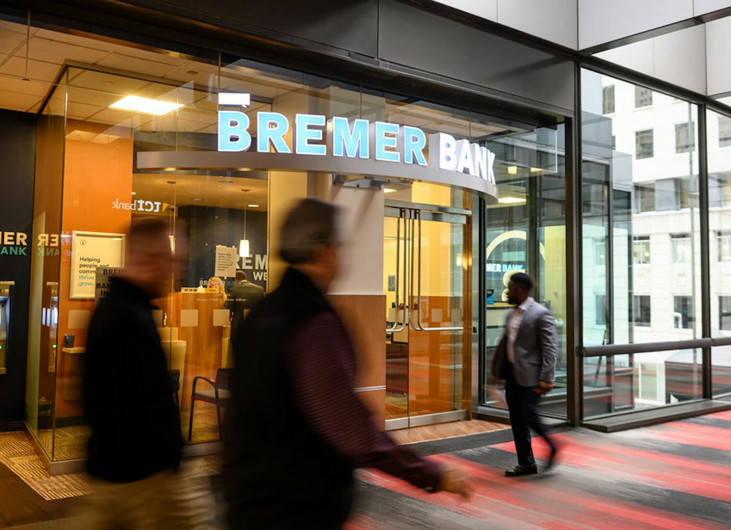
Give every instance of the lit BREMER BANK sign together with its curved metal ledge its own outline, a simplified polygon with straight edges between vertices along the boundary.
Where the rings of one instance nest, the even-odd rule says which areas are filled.
[[[458,186],[497,202],[495,155],[444,132],[386,121],[322,114],[288,118],[245,113],[249,94],[219,94],[216,151],[137,152],[137,168],[154,171],[292,171],[361,176],[379,187],[392,179]],[[254,133],[254,127],[256,133]],[[357,186],[363,179],[355,179]]]

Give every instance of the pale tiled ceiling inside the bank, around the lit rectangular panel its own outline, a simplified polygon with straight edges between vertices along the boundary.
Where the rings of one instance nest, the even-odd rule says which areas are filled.
[[[264,101],[306,89],[295,80],[269,75],[244,64],[222,67],[219,81],[219,68],[213,64],[33,27],[26,61],[26,31],[26,26],[0,20],[1,108],[38,112],[67,60],[167,80],[156,83],[88,69],[69,69],[69,118],[131,126],[145,131],[215,133],[219,83],[221,90],[249,92],[254,99]],[[327,88],[322,94],[316,94],[315,89],[307,89],[310,95],[325,99],[333,97]],[[162,117],[109,108],[110,104],[129,94],[179,102],[185,106]],[[387,120],[419,126],[425,132],[442,131],[474,138],[505,130],[504,127],[474,121],[470,123],[469,119],[455,117],[448,110],[381,101],[381,105],[385,105]],[[253,116],[264,107],[268,104],[254,101],[247,112]],[[50,105],[53,113],[63,113],[63,110],[60,97],[57,104]],[[255,120],[251,121],[250,129],[256,132]]]

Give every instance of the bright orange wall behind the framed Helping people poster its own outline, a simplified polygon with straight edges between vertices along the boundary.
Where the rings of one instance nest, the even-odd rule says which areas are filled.
[[[92,134],[79,134],[76,131]],[[64,237],[61,241],[57,417],[80,413],[80,405],[76,399],[64,400],[64,395],[80,395],[80,389],[75,387],[80,384],[80,365],[72,356],[60,350],[65,333],[75,334],[75,346],[86,346],[86,329],[69,329],[69,311],[81,309],[90,314],[94,311],[94,300],[69,300],[71,232],[129,232],[131,211],[115,210],[111,206],[117,198],[124,202],[132,199],[131,129],[69,120],[66,135],[61,230],[69,237]],[[118,138],[113,140],[112,136]]]

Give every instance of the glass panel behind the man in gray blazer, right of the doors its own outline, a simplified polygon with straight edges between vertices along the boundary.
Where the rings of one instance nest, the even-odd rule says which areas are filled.
[[[542,410],[566,415],[567,303],[564,125],[515,128],[485,138],[496,154],[500,199],[485,212],[485,367],[505,333],[507,284],[518,271],[535,281],[534,298],[553,312],[558,338],[556,390]],[[485,401],[491,404],[491,401]]]

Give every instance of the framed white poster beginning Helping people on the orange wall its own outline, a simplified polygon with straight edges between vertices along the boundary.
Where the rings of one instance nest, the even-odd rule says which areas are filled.
[[[124,267],[124,234],[72,232],[69,298],[95,298],[96,269],[99,267]]]

